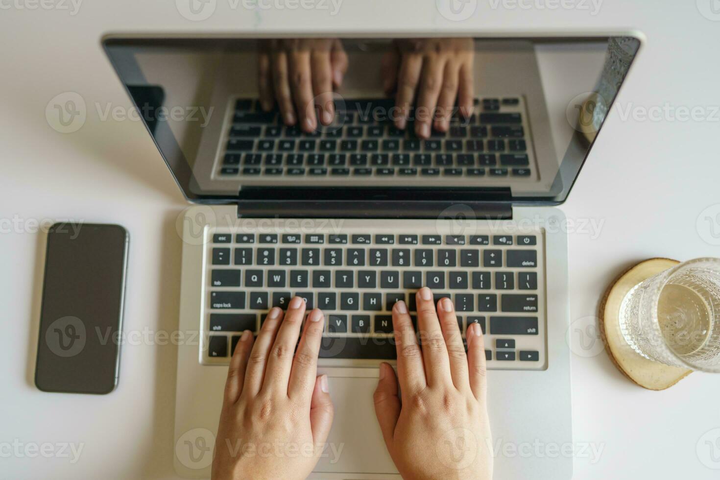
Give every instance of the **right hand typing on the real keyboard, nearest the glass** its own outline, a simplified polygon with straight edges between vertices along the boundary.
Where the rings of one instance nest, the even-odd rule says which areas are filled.
[[[397,302],[392,310],[397,376],[382,363],[374,394],[387,449],[403,479],[490,480],[492,440],[480,325],[467,329],[466,356],[450,299],[441,299],[436,313],[433,294],[425,287],[418,291],[417,304],[422,349],[405,302]]]

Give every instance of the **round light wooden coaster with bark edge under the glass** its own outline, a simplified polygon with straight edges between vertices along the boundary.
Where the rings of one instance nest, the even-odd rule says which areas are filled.
[[[642,261],[618,276],[608,287],[603,301],[600,302],[598,314],[600,337],[603,338],[608,355],[626,377],[649,390],[665,390],[677,384],[692,371],[650,361],[636,353],[620,332],[620,304],[634,286],[678,263],[680,262],[669,258],[650,258]]]

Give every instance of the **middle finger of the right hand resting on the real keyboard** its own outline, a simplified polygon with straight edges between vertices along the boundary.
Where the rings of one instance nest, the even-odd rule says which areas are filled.
[[[428,385],[447,384],[450,376],[450,361],[443,332],[433,303],[433,292],[423,286],[416,295],[418,302],[418,329],[423,350],[423,365]],[[400,387],[402,388],[402,386]]]

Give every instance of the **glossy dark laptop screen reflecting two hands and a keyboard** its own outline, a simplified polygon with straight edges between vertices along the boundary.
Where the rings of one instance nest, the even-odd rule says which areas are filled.
[[[283,189],[564,201],[639,48],[620,36],[104,44],[194,201]]]

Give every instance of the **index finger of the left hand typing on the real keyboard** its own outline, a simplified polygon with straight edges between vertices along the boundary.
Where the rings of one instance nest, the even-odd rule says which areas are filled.
[[[318,352],[320,352],[320,342],[323,340],[323,327],[325,327],[323,320],[325,320],[323,312],[317,308],[307,316],[300,345],[297,345],[297,352],[292,361],[290,381],[287,385],[288,397],[310,401],[315,385],[315,376],[318,375]]]

